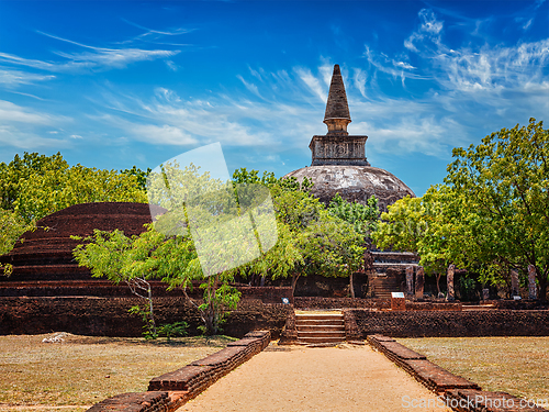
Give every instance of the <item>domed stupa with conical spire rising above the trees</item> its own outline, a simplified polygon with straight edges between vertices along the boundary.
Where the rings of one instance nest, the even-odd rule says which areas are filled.
[[[334,66],[324,123],[325,135],[311,140],[313,160],[311,166],[293,170],[284,177],[295,177],[300,182],[307,177],[313,183],[311,193],[324,203],[339,196],[348,201],[366,204],[373,194],[381,211],[389,204],[414,192],[396,176],[372,167],[366,158],[366,135],[349,135],[347,125],[351,122],[347,94],[339,70]]]

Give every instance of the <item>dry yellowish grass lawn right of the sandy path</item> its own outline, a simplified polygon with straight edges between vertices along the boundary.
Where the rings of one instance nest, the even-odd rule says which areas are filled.
[[[424,337],[397,339],[480,385],[528,400],[549,400],[549,337]],[[546,404],[547,408],[547,404]]]

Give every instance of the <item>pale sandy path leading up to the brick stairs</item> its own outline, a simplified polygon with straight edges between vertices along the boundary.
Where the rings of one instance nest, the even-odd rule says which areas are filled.
[[[410,398],[403,398],[410,397]],[[412,408],[412,401],[432,408]],[[451,411],[370,346],[278,347],[262,353],[181,407],[183,411]]]

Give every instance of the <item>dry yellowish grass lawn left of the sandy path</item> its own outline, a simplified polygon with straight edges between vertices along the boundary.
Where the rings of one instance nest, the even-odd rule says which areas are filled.
[[[145,341],[66,334],[0,336],[0,411],[85,411],[220,350],[229,337]]]

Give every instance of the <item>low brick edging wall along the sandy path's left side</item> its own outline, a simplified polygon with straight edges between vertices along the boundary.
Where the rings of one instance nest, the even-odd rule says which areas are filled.
[[[244,338],[229,343],[213,355],[150,379],[147,392],[119,394],[94,404],[88,412],[176,411],[217,379],[260,353],[269,342],[269,331],[249,332]]]

